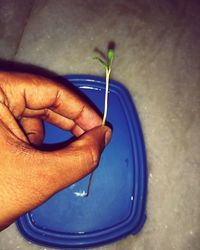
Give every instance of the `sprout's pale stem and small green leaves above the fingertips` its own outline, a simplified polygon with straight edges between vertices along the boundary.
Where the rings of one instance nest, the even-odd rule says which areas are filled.
[[[98,56],[94,57],[106,70],[106,91],[105,91],[105,100],[104,100],[104,115],[103,115],[103,121],[102,126],[106,123],[106,117],[108,113],[108,92],[109,92],[109,80],[110,80],[110,72],[112,68],[112,63],[114,59],[114,50],[109,49],[107,53],[107,60],[104,61]]]

